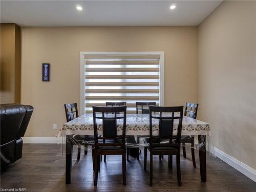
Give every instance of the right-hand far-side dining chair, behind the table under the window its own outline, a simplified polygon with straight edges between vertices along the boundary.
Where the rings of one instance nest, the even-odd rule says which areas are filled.
[[[150,110],[149,110],[148,106],[150,106],[150,105],[156,106],[156,102],[137,102],[136,101],[136,114],[139,114],[139,111],[141,111],[141,114],[149,114]],[[140,136],[140,135],[137,136],[137,143],[140,143],[141,137],[142,136]],[[129,152],[132,148],[137,150],[137,160],[140,159],[140,148],[139,147],[126,147],[127,161],[129,160]],[[159,156],[159,158],[161,159],[161,156]]]

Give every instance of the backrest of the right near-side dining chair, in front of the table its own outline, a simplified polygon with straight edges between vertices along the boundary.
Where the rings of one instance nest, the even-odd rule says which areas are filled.
[[[153,116],[154,113],[154,116]],[[178,119],[176,143],[180,146],[181,129],[183,118],[183,106],[150,106],[150,145],[153,146],[153,123],[152,120],[157,119],[158,125],[158,139],[168,139],[169,143],[173,142],[173,130],[175,119]],[[154,122],[155,124],[155,122]],[[165,146],[167,144],[157,144],[158,146]]]

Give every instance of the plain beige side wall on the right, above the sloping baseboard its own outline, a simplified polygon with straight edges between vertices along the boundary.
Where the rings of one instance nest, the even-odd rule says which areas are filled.
[[[214,145],[256,169],[256,2],[223,2],[199,26],[198,118]]]

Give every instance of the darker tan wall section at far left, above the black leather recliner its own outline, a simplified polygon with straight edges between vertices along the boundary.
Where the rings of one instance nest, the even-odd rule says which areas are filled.
[[[20,27],[1,24],[1,103],[20,102]]]

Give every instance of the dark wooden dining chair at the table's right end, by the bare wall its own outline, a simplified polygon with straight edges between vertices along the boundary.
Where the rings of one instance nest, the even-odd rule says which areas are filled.
[[[198,111],[198,103],[189,103],[186,102],[184,116],[196,119],[197,118],[197,111]],[[193,161],[193,166],[197,167],[196,159],[195,159],[195,151],[194,151],[194,144],[195,144],[195,136],[181,136],[181,143],[182,143],[182,151],[183,157],[186,159],[186,148],[184,146],[185,143],[191,144],[191,157]]]

